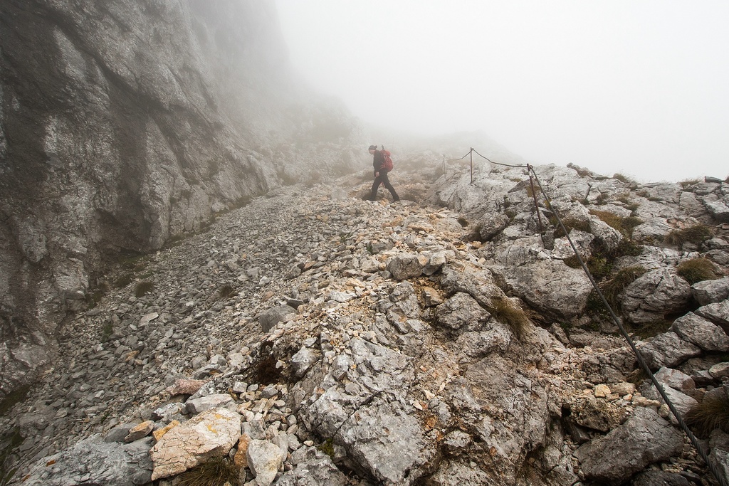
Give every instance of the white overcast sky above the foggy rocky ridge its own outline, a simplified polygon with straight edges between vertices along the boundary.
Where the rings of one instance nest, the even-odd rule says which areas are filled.
[[[644,182],[729,175],[727,0],[276,4],[295,69],[367,122]]]

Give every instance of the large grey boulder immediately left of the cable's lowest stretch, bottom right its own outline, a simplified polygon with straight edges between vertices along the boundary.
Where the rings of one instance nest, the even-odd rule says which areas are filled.
[[[620,483],[651,463],[683,448],[683,436],[655,409],[638,407],[631,418],[604,437],[574,452],[586,479]]]

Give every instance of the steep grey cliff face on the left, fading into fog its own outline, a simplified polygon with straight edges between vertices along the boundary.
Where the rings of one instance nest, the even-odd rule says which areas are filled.
[[[0,397],[106,256],[361,162],[356,122],[296,87],[270,3],[11,0],[0,40]]]

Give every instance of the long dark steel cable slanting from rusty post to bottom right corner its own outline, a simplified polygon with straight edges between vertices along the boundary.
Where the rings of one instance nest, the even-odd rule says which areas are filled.
[[[537,177],[537,173],[534,171],[534,167],[531,165],[528,165],[529,171],[534,174],[534,179],[537,181],[537,185],[539,186],[539,190],[541,190],[542,195],[544,195],[545,200],[547,202],[549,201],[549,197],[547,197],[547,193],[545,192],[544,187],[542,187],[542,182],[539,181],[539,177]],[[537,208],[537,211],[539,211],[539,208]],[[684,422],[683,418],[681,417],[681,414],[678,412],[676,407],[674,407],[674,404],[671,403],[671,400],[668,399],[668,396],[666,396],[666,392],[663,391],[663,385],[658,383],[658,380],[656,379],[655,375],[650,371],[650,368],[648,367],[647,363],[643,359],[643,356],[638,351],[638,348],[636,348],[635,342],[631,339],[631,337],[628,335],[628,332],[625,330],[625,327],[623,327],[623,324],[618,320],[615,313],[612,311],[612,307],[610,307],[609,303],[607,302],[607,299],[605,299],[605,296],[602,294],[602,291],[600,290],[600,287],[597,285],[595,279],[593,278],[592,274],[590,273],[590,270],[588,270],[587,265],[585,265],[585,262],[582,261],[582,257],[580,256],[580,253],[577,251],[577,248],[574,246],[574,243],[572,243],[572,238],[569,238],[569,232],[567,231],[566,227],[564,227],[564,223],[562,223],[562,219],[559,217],[559,214],[557,211],[552,211],[555,215],[555,218],[557,219],[557,222],[559,223],[559,226],[561,230],[564,232],[567,241],[569,241],[569,246],[572,246],[572,251],[574,251],[574,255],[577,256],[577,260],[580,262],[580,265],[582,266],[582,270],[584,270],[585,275],[588,276],[590,279],[590,283],[592,283],[593,288],[599,295],[600,299],[602,300],[602,303],[607,308],[608,313],[610,314],[610,317],[612,318],[612,321],[617,325],[618,329],[620,329],[620,334],[623,334],[623,337],[628,342],[628,345],[630,345],[631,349],[633,350],[633,353],[636,355],[636,358],[638,360],[638,364],[643,369],[643,371],[650,377],[650,380],[652,381],[653,385],[655,385],[655,388],[658,390],[658,393],[660,393],[661,398],[663,401],[668,405],[668,409],[671,410],[671,413],[674,414],[674,417],[679,423],[679,426],[681,426],[682,430],[686,434],[686,436],[689,438],[691,443],[693,444],[693,447],[698,451],[698,454],[701,455],[701,458],[706,463],[706,466],[709,468],[709,471],[712,472],[714,477],[719,481],[721,486],[729,486],[729,483],[721,473],[719,469],[717,469],[716,466],[714,466],[714,463],[709,460],[709,455],[706,454],[706,451],[703,450],[703,447],[701,447],[701,444],[698,443],[698,439],[693,435],[693,432],[688,428],[686,423]]]

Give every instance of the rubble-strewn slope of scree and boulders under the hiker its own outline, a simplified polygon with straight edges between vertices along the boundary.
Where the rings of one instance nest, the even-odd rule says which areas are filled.
[[[551,168],[536,170],[541,177]],[[547,273],[551,282],[574,275],[569,257],[551,244],[564,236],[549,212],[561,211],[569,226],[580,225],[572,232],[594,237],[582,236],[588,267],[603,269],[596,278],[631,332],[640,332],[633,334],[639,352],[695,433],[714,438],[703,443],[726,468],[721,423],[690,418],[729,399],[725,301],[701,306],[689,297],[686,307],[666,302],[663,310],[652,301],[656,315],[683,314],[649,329],[620,305],[630,283],[621,291],[611,282],[642,263],[690,288],[696,283],[685,279],[696,277],[681,264],[712,259],[718,276],[727,247],[707,250],[701,239],[680,250],[663,241],[628,245],[635,241],[624,220],[599,211],[616,202],[640,211],[642,189],[617,180],[604,187],[620,201],[604,196],[601,205],[550,192],[550,208],[539,211],[552,240],[539,235],[534,201],[519,193],[526,190],[514,179],[526,174],[478,171],[491,187],[505,187],[510,224],[488,241],[471,224],[453,224],[469,213],[364,201],[368,183],[351,176],[270,192],[221,215],[206,233],[138,261],[132,283],[64,328],[65,359],[4,418],[22,440],[11,463],[40,481],[49,477],[49,457],[64,458],[69,477],[86,477],[85,463],[67,458],[78,453],[77,439],[103,434],[136,444],[152,434],[154,448],[144,442],[152,464],[122,470],[160,471],[160,484],[216,460],[241,485],[651,484],[658,477],[701,484],[706,466],[658,391],[640,379],[627,343],[609,334],[615,329],[593,296],[544,289],[534,299],[531,280],[510,273],[529,267],[529,275]],[[397,184],[397,177],[403,195],[425,197],[418,183]],[[451,179],[448,190],[457,191],[468,177],[456,171],[431,188]],[[547,180],[550,191],[584,189],[577,173]],[[662,190],[680,199],[675,194],[685,191],[676,186]],[[662,211],[679,218],[671,205]],[[620,228],[617,243],[596,223],[603,218]],[[672,231],[698,224],[691,218]],[[711,240],[725,237],[722,224],[703,221]],[[630,273],[634,281],[638,274]],[[154,285],[135,297],[144,281]],[[222,449],[211,438],[195,447],[200,454],[175,452],[170,457],[189,466],[165,469],[155,451],[211,413],[240,421],[240,435],[226,432]]]

